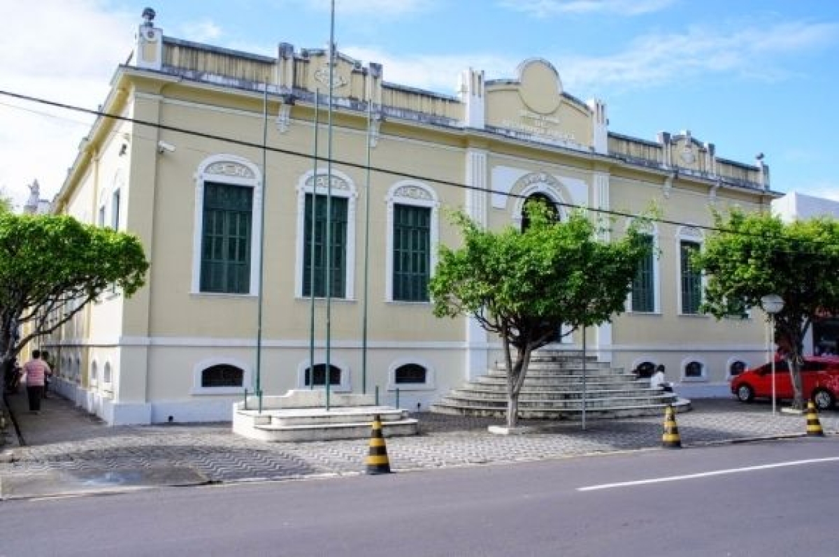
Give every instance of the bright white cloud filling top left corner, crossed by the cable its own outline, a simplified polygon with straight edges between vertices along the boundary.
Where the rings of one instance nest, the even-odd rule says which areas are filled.
[[[100,0],[16,4],[0,34],[0,90],[96,109],[113,71],[128,59],[138,14]],[[91,121],[0,95],[0,188],[14,204],[26,200],[35,179],[44,198],[57,193]]]

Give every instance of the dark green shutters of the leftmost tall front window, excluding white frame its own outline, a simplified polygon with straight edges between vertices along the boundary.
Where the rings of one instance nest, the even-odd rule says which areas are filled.
[[[201,292],[248,294],[253,188],[204,184]]]

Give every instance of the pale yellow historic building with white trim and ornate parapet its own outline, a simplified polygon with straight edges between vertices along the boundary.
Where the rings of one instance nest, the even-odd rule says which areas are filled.
[[[427,407],[500,354],[471,320],[431,314],[436,248],[459,241],[446,209],[499,228],[533,196],[560,215],[617,214],[612,234],[623,215],[661,210],[660,257],[627,311],[587,331],[599,359],[664,363],[688,396],[726,393],[732,372],[763,361],[763,315],[701,315],[701,277],[685,267],[711,207],[777,197],[762,160],[719,158],[687,132],[613,133],[606,105],[566,93],[546,60],[510,79],[465,70],[446,96],[339,52],[331,66],[325,49],[266,57],[169,38],[153,17],[113,76],[102,110],[115,117],[94,123],[53,204],[137,234],[151,262],[132,299],[112,292],[44,345],[58,388],[108,422],[230,419],[257,379],[270,394],[322,388],[327,363],[336,391],[393,403],[399,388],[403,407]]]

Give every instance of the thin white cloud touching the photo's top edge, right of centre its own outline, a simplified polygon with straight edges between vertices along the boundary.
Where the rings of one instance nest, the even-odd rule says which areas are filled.
[[[659,12],[676,0],[500,0],[499,6],[537,18],[560,15],[608,14],[637,16]]]

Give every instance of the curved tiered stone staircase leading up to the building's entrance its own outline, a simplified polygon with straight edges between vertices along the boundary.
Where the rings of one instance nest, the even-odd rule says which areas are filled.
[[[581,419],[583,366],[579,352],[535,351],[519,395],[521,419]],[[663,415],[671,404],[676,411],[690,409],[690,401],[674,393],[649,388],[649,379],[614,368],[597,357],[586,357],[586,418],[626,418]],[[503,418],[507,413],[507,375],[503,362],[495,362],[487,375],[452,390],[432,412]]]

